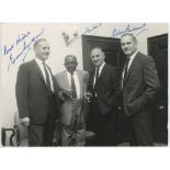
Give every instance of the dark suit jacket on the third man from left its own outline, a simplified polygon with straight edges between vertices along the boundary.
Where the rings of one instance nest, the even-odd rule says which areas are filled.
[[[94,75],[95,70],[90,73],[89,91],[94,95],[95,89],[99,109],[102,114],[106,114],[117,105],[118,80],[116,69],[105,64],[93,89]]]

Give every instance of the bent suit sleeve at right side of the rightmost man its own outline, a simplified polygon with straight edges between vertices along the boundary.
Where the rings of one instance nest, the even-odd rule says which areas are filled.
[[[145,92],[141,95],[143,104],[154,100],[159,88],[159,79],[155,61],[151,57],[148,57],[144,66],[144,81],[147,86]]]

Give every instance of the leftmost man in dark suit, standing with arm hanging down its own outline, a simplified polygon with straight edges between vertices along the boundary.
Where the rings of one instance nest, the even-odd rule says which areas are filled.
[[[49,45],[41,38],[34,43],[35,59],[19,68],[15,95],[19,115],[29,127],[29,146],[52,146],[57,115],[56,84],[45,64]]]

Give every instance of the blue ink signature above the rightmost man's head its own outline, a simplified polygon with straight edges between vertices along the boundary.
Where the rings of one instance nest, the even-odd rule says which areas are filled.
[[[147,24],[143,23],[140,26],[131,26],[129,24],[123,29],[123,30],[118,30],[118,29],[114,29],[112,36],[116,37],[118,35],[125,34],[125,33],[133,33],[136,32],[136,35],[139,35],[141,32],[144,31],[148,31],[147,29]]]

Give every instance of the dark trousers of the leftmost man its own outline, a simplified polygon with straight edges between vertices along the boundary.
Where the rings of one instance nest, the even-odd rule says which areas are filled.
[[[57,105],[54,95],[48,97],[48,112],[44,124],[31,124],[29,146],[53,146]]]

